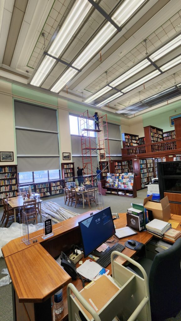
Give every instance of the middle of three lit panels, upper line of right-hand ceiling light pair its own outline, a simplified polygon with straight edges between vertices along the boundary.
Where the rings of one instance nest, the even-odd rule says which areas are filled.
[[[120,83],[124,82],[125,80],[129,79],[131,76],[139,73],[142,69],[149,66],[151,63],[148,61],[148,59],[144,59],[139,64],[128,70],[126,73],[122,74],[120,77],[113,80],[113,82],[110,83],[110,86],[116,87]]]

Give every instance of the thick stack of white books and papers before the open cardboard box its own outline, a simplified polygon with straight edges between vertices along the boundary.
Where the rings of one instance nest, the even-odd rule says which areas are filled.
[[[164,233],[171,229],[171,224],[165,221],[154,219],[146,224],[147,232],[157,236],[162,239]]]

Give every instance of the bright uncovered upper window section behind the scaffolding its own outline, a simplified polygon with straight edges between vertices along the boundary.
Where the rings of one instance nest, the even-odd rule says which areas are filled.
[[[85,118],[84,118],[85,119]],[[81,130],[83,128],[94,129],[94,119],[85,119],[84,122],[80,121],[80,117],[69,115],[70,122],[70,134],[71,135],[81,135]],[[86,132],[83,133],[84,136],[95,137],[95,132]]]

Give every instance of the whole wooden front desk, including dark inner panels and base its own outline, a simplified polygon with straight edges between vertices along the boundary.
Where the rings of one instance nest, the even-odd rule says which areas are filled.
[[[80,244],[78,221],[85,219],[92,212],[95,211],[89,211],[53,225],[54,235],[49,239],[42,239],[39,230],[30,234],[31,244],[29,246],[21,243],[21,238],[17,238],[2,248],[5,263],[12,279],[14,321],[28,321],[26,310],[30,319],[34,321],[68,319],[66,285],[71,282],[71,278],[54,258],[58,257],[61,251],[70,251],[72,244]],[[119,216],[120,218],[114,221],[116,228],[126,225],[126,213],[121,213]],[[181,216],[173,215],[172,219],[180,222]],[[60,228],[57,229],[58,227]],[[181,229],[180,224],[177,229]],[[121,239],[119,242],[122,244],[128,239],[135,239],[147,244],[152,237],[152,234],[142,231]],[[33,243],[33,239],[37,239],[38,242]],[[123,253],[132,257],[136,251],[126,247]],[[117,257],[116,260],[121,264],[126,262],[121,257]],[[111,265],[108,266],[108,269],[111,274]],[[82,282],[79,279],[73,283],[79,291],[82,289]],[[55,317],[50,298],[61,288],[63,288],[64,310]]]

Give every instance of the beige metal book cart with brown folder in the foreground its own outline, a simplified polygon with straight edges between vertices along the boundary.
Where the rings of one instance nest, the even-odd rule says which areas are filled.
[[[114,261],[114,254],[137,266],[141,270],[144,279]],[[92,286],[89,286],[87,290],[83,289],[81,292],[72,283],[68,284],[69,321],[112,321],[116,316],[121,321],[151,321],[149,285],[145,270],[136,261],[117,251],[111,254],[111,266],[112,277],[103,275],[100,278],[104,277],[102,288],[100,286],[96,288],[95,286],[100,279],[95,281]],[[105,283],[109,285],[107,289]],[[113,292],[113,288],[117,290]],[[103,298],[105,293],[106,296]],[[85,297],[87,299],[90,297],[88,300],[92,305],[88,303]],[[100,300],[102,300],[102,306],[100,306]]]

